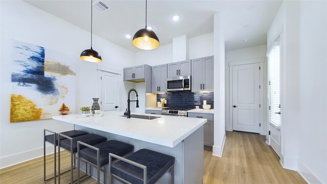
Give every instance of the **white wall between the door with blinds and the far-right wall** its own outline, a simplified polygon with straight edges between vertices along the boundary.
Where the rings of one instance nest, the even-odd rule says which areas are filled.
[[[297,170],[299,146],[298,1],[284,1],[267,33],[267,49],[282,34],[281,111],[282,156],[284,168]]]

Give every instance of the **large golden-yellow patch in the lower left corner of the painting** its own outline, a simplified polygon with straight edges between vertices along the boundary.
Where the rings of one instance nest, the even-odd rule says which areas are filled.
[[[40,120],[42,108],[22,95],[11,95],[10,122]]]

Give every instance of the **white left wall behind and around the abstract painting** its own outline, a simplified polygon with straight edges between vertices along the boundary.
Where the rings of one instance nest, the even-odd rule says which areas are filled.
[[[76,56],[72,62],[77,64],[76,109],[79,109],[82,105],[90,106],[91,98],[98,96],[94,90],[97,89],[97,64],[79,59],[80,53],[90,48],[89,38],[89,32],[25,2],[1,1],[1,168],[41,156],[43,128],[58,132],[74,128],[55,120],[10,123],[11,40]],[[94,35],[93,45],[103,58],[101,64],[116,68],[122,74],[123,67],[135,63],[135,53],[98,36]],[[121,84],[123,86],[123,82]],[[125,91],[121,97],[127,99]],[[123,108],[126,106],[127,102],[122,104]]]

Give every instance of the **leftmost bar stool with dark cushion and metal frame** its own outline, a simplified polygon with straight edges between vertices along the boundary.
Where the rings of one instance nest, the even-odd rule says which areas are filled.
[[[46,132],[50,132],[52,134],[49,134],[49,135],[45,135]],[[76,137],[76,136],[80,136],[80,135],[85,135],[85,134],[88,134],[87,132],[85,131],[81,131],[81,130],[71,130],[71,131],[65,131],[65,132],[61,132],[62,134],[64,135],[67,135],[69,137]],[[65,137],[61,137],[61,139],[66,139]],[[43,129],[43,181],[44,183],[48,183],[48,180],[51,179],[45,179],[45,173],[46,173],[46,169],[45,169],[45,142],[48,142],[52,145],[54,145],[54,183],[56,183],[56,169],[57,169],[57,163],[56,163],[56,154],[57,154],[57,150],[56,150],[56,147],[58,146],[58,133],[57,132],[54,132],[54,131],[51,131],[51,130],[48,130],[48,129]],[[60,150],[59,150],[60,151]]]

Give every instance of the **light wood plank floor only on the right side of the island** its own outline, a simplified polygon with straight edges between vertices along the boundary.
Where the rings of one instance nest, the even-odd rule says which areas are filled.
[[[226,131],[222,157],[204,151],[203,183],[307,183],[296,171],[282,168],[265,138]]]

